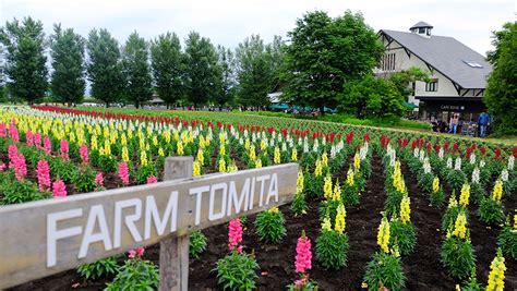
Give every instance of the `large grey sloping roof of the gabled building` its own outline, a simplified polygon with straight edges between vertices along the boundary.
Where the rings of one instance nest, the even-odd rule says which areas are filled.
[[[486,87],[486,77],[492,72],[492,65],[485,57],[455,38],[436,35],[423,37],[388,29],[381,29],[380,33],[393,38],[461,88]],[[478,63],[482,68],[472,68],[469,62]]]

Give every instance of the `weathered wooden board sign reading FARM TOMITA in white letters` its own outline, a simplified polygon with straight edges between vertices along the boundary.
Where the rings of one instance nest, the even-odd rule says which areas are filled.
[[[285,204],[297,173],[287,163],[0,207],[0,289]]]

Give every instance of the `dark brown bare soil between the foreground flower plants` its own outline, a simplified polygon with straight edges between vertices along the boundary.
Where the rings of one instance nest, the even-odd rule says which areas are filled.
[[[215,153],[214,153],[215,154]],[[345,181],[346,170],[349,163],[344,165],[339,171],[339,180]],[[402,259],[404,270],[407,277],[406,288],[408,290],[454,290],[455,282],[445,272],[440,260],[440,248],[445,233],[440,231],[441,218],[445,209],[429,206],[429,197],[420,191],[414,174],[407,165],[402,163],[402,173],[406,178],[409,195],[411,197],[411,220],[417,228],[417,246],[412,255]],[[341,177],[342,175],[342,177]],[[347,209],[347,234],[349,237],[350,250],[348,253],[348,266],[341,270],[325,270],[313,259],[313,268],[309,271],[311,279],[316,281],[321,290],[360,290],[363,281],[364,268],[375,251],[376,232],[381,221],[381,211],[384,207],[386,193],[384,192],[385,177],[383,166],[377,155],[372,159],[372,175],[370,177],[361,203],[357,207]],[[512,211],[516,208],[515,195],[506,201],[506,209]],[[245,223],[243,244],[245,252],[254,252],[258,270],[258,290],[285,290],[285,287],[294,281],[298,276],[294,272],[296,243],[302,230],[313,242],[320,232],[317,215],[318,202],[309,202],[310,210],[303,217],[293,217],[289,205],[280,207],[286,217],[287,238],[280,245],[267,245],[258,241],[254,233],[253,221],[255,216],[250,216]],[[496,250],[496,237],[500,228],[486,228],[476,216],[477,206],[471,205],[471,239],[477,255],[478,281],[486,283],[492,262]],[[227,253],[226,225],[212,227],[204,230],[208,238],[207,250],[200,259],[190,264],[189,290],[217,290],[217,278],[212,270],[217,259]],[[159,250],[157,245],[149,246],[145,258],[158,264]],[[517,264],[506,259],[506,289],[517,289]],[[12,290],[99,290],[111,278],[98,281],[85,281],[74,270],[65,271],[52,277],[25,283]],[[73,288],[72,288],[73,286]]]

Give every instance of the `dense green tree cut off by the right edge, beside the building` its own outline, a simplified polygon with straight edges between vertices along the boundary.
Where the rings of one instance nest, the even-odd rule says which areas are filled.
[[[517,133],[517,24],[506,23],[502,31],[494,32],[489,62],[493,71],[489,76],[483,98],[489,112],[494,117],[494,129],[498,134]]]

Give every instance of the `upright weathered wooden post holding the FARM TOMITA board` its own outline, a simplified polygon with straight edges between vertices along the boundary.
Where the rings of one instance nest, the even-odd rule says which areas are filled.
[[[169,157],[165,160],[164,181],[191,178],[192,157]],[[159,290],[187,291],[189,284],[189,234],[167,238],[159,245]]]

